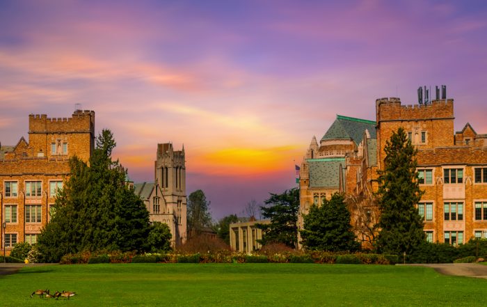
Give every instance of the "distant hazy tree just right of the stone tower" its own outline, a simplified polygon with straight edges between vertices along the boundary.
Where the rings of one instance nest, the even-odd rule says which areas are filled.
[[[188,235],[199,235],[204,228],[211,227],[209,201],[201,190],[189,194],[186,211],[188,221]]]

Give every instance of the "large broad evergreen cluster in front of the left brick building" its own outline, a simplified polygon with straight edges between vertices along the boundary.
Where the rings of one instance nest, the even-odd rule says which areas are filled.
[[[113,134],[104,129],[86,164],[70,159],[71,175],[56,197],[56,214],[38,237],[45,262],[100,249],[141,251],[149,233],[149,212],[125,184],[126,170],[111,160]]]

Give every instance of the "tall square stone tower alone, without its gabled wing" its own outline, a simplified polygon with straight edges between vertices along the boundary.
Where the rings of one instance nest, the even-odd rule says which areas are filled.
[[[172,143],[157,144],[154,179],[162,194],[163,212],[173,214],[171,228],[176,245],[186,241],[186,166],[184,145],[175,151]]]

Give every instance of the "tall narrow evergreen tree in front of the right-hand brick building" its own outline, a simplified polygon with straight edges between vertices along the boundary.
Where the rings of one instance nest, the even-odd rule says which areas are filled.
[[[375,245],[381,253],[409,255],[426,241],[423,221],[415,207],[423,194],[417,181],[417,150],[403,128],[392,132],[384,150],[384,170],[378,172],[381,217]]]

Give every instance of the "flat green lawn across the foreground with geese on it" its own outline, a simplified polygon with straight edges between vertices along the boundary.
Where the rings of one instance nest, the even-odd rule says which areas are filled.
[[[30,294],[49,288],[66,299]],[[426,267],[127,264],[26,267],[0,277],[1,306],[487,306],[487,280]]]

